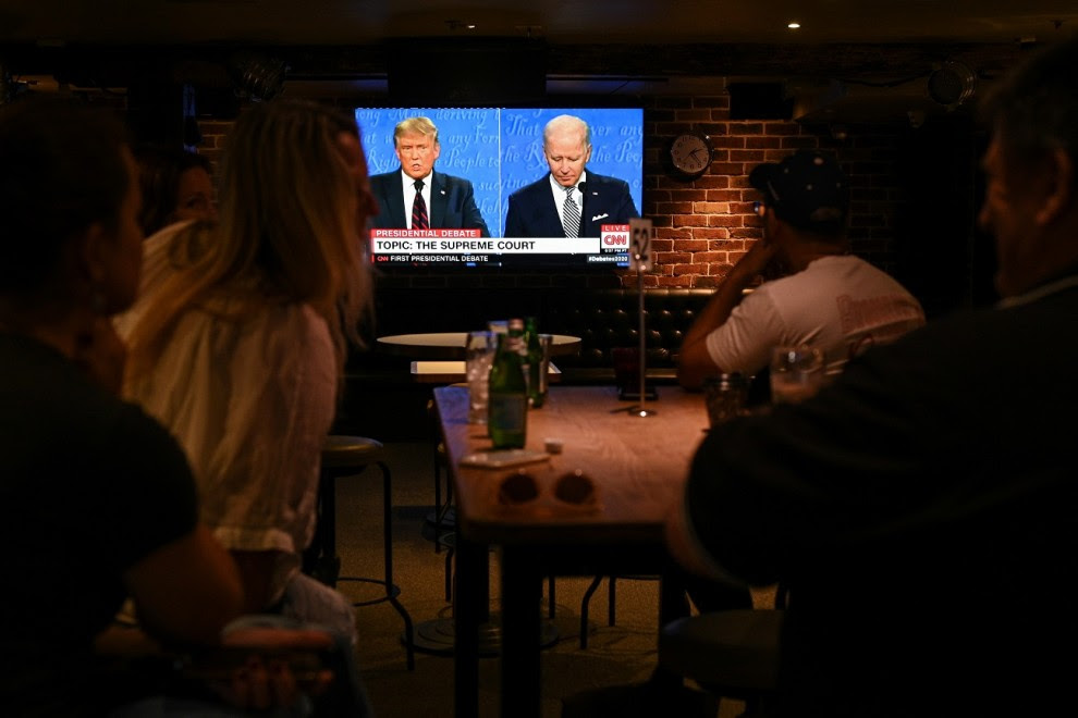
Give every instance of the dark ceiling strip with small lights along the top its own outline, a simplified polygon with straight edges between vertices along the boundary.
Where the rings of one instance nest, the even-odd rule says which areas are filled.
[[[788,30],[791,21],[801,28]],[[362,45],[530,33],[555,45],[1009,42],[1045,40],[1076,21],[1078,8],[1062,0],[4,0],[0,40]]]

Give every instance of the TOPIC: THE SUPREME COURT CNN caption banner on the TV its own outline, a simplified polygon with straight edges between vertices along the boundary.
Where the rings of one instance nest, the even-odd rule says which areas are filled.
[[[371,230],[375,264],[513,263],[513,257],[576,256],[581,263],[625,267],[629,225],[603,224],[599,237],[481,237],[479,230]]]

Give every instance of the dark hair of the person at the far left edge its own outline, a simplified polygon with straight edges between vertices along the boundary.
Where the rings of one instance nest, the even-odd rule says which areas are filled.
[[[115,231],[126,144],[111,110],[41,97],[0,108],[0,292],[44,288],[68,242],[95,222]]]

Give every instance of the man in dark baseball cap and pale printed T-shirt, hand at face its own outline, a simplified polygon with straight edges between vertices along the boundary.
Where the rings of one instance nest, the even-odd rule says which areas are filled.
[[[776,346],[824,352],[828,373],[867,347],[887,344],[924,323],[909,292],[849,253],[849,180],[835,158],[799,150],[758,165],[763,237],[726,275],[685,335],[677,379],[686,388],[720,373],[755,376]],[[768,269],[781,278],[746,289]]]

